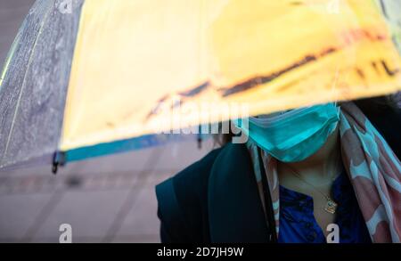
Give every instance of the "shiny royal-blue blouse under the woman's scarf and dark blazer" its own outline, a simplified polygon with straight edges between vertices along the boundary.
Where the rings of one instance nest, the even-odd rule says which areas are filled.
[[[343,171],[332,185],[333,200],[339,204],[335,224],[340,228],[340,243],[370,243],[364,218],[348,176]],[[280,186],[279,242],[325,243],[323,231],[314,216],[313,199]]]

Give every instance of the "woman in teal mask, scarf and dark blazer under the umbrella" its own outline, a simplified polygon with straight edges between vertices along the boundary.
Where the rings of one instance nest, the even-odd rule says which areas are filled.
[[[401,116],[357,103],[250,118],[248,143],[157,186],[161,241],[399,242]]]

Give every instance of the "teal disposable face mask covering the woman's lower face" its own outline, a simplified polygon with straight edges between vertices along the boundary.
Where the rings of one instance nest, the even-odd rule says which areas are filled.
[[[282,162],[307,159],[322,148],[339,122],[334,103],[290,110],[266,118],[250,118],[240,127],[260,148]]]

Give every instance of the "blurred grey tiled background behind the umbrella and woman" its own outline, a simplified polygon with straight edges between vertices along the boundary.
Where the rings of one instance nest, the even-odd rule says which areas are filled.
[[[35,0],[0,0],[0,67]],[[210,151],[196,142],[92,159],[61,168],[0,172],[0,242],[59,242],[61,224],[73,242],[158,242],[154,192]]]

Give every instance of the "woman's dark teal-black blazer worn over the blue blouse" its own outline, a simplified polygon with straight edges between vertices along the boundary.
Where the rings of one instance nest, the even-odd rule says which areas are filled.
[[[372,118],[400,159],[401,117]],[[379,124],[378,124],[379,123]],[[269,242],[245,144],[228,143],[156,187],[162,242]],[[269,204],[268,204],[269,205]],[[272,208],[271,205],[266,208]]]

